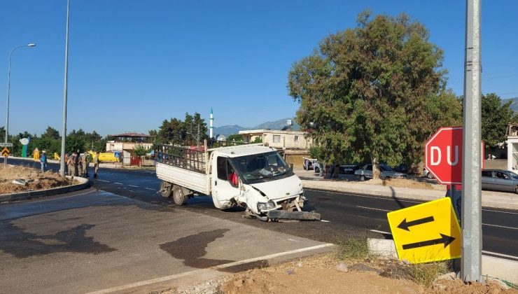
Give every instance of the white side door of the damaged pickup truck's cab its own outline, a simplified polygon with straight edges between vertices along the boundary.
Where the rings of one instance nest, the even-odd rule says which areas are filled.
[[[230,207],[233,198],[240,193],[237,172],[230,165],[230,161],[225,157],[216,158],[216,172],[212,176],[212,200],[218,209]]]

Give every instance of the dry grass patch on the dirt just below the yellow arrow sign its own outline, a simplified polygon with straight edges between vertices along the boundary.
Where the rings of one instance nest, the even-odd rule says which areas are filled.
[[[381,276],[391,279],[408,279],[428,288],[442,274],[449,272],[450,264],[446,261],[419,263],[409,265],[405,262],[391,260],[384,266]]]

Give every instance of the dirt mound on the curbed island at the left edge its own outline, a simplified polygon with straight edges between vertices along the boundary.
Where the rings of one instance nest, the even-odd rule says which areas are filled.
[[[26,184],[18,185],[13,180],[22,179]],[[0,166],[0,194],[20,193],[33,190],[44,190],[72,185],[74,181],[63,179],[59,174],[48,171],[19,166]]]

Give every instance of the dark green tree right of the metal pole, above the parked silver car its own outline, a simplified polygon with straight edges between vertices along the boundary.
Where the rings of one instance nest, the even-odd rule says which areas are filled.
[[[506,140],[507,124],[512,121],[514,114],[510,109],[511,103],[502,104],[495,93],[482,95],[482,140],[487,147]]]

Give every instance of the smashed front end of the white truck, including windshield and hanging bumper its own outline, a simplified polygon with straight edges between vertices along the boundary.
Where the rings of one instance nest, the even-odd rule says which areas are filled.
[[[237,202],[262,221],[295,219],[318,221],[320,214],[302,211],[304,189],[297,175],[276,151],[230,159],[239,174],[241,193]]]

